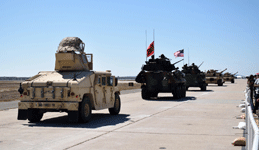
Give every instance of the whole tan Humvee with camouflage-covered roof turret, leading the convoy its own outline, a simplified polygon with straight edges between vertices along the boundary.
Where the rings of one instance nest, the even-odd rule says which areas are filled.
[[[20,84],[18,120],[41,120],[45,112],[67,112],[70,122],[87,122],[92,110],[120,112],[117,79],[110,71],[92,71],[93,55],[84,53],[77,37],[64,38],[56,53],[55,71],[41,71]]]

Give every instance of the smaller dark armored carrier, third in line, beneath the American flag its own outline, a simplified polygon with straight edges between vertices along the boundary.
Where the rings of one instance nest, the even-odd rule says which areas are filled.
[[[200,64],[200,66],[201,65],[202,64]],[[187,64],[185,64],[182,67],[182,72],[185,73],[186,90],[188,90],[189,87],[200,87],[201,91],[206,91],[207,84],[205,73],[200,71],[199,67],[197,67],[194,63],[192,63],[191,66],[187,66]]]

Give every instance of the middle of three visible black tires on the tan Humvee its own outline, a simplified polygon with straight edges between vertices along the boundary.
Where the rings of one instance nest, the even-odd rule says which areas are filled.
[[[92,117],[92,105],[88,97],[84,97],[79,107],[79,121],[82,123],[89,122]]]

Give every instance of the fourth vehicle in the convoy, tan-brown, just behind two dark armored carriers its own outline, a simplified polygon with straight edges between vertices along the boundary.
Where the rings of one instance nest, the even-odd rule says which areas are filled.
[[[218,84],[218,86],[223,86],[223,83],[225,82],[222,76],[222,73],[224,71],[226,71],[226,69],[224,69],[221,72],[218,72],[218,70],[208,70],[206,73],[206,83],[207,84]]]

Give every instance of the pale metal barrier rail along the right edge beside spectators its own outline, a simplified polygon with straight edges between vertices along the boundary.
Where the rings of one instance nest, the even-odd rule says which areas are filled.
[[[246,150],[258,150],[258,144],[259,144],[259,130],[258,126],[255,123],[254,116],[252,113],[252,108],[250,103],[252,101],[251,97],[251,90],[247,87],[245,91],[245,121],[246,121]]]

